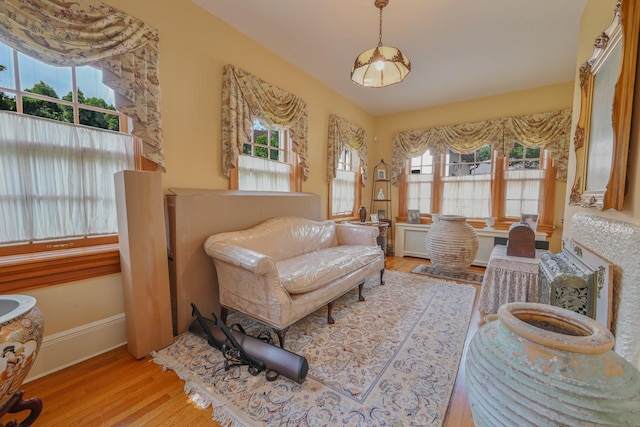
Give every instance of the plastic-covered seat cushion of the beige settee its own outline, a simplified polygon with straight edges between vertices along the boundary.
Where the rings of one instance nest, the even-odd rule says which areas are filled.
[[[278,275],[287,292],[301,294],[329,285],[381,256],[379,246],[334,246],[278,262]]]

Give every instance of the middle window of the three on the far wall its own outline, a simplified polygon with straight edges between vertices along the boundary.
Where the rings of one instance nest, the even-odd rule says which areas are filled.
[[[472,218],[490,216],[491,146],[468,154],[448,149],[442,184],[440,213]]]

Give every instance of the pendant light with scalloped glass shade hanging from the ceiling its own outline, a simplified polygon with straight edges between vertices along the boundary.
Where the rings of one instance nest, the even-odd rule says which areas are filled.
[[[351,80],[364,87],[385,87],[400,83],[411,71],[411,61],[400,49],[382,45],[382,9],[389,0],[374,0],[380,9],[380,39],[378,46],[362,52],[351,70]]]

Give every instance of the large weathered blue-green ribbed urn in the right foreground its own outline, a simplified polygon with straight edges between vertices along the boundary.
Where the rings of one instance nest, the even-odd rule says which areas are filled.
[[[508,303],[465,359],[473,420],[483,426],[632,426],[640,372],[595,320],[547,304]]]

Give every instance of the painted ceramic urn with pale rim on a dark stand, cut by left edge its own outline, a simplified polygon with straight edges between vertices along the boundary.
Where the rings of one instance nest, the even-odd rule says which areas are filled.
[[[26,378],[42,344],[44,320],[36,299],[0,295],[0,408]]]

